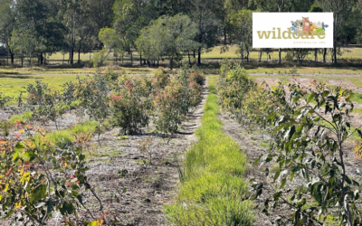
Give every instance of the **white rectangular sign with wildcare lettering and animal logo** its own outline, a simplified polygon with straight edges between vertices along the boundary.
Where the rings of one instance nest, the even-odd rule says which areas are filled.
[[[333,48],[333,13],[252,13],[252,48]]]

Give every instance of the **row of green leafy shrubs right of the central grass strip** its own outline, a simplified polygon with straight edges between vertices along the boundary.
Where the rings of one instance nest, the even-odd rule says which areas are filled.
[[[218,83],[223,108],[247,131],[262,132],[269,139],[269,151],[254,166],[273,164],[264,169],[270,184],[254,181],[250,196],[263,194],[262,212],[269,215],[276,208],[274,214],[284,214],[276,217],[278,225],[323,225],[330,217],[338,225],[360,225],[360,186],[348,176],[346,163],[346,153],[353,152],[348,144],[356,146],[356,139],[362,138],[351,121],[353,92],[317,80],[310,80],[309,86],[297,80],[258,85],[230,61],[224,61]],[[361,150],[357,144],[357,157]],[[295,178],[298,182],[293,183]],[[288,212],[280,212],[281,204]]]

